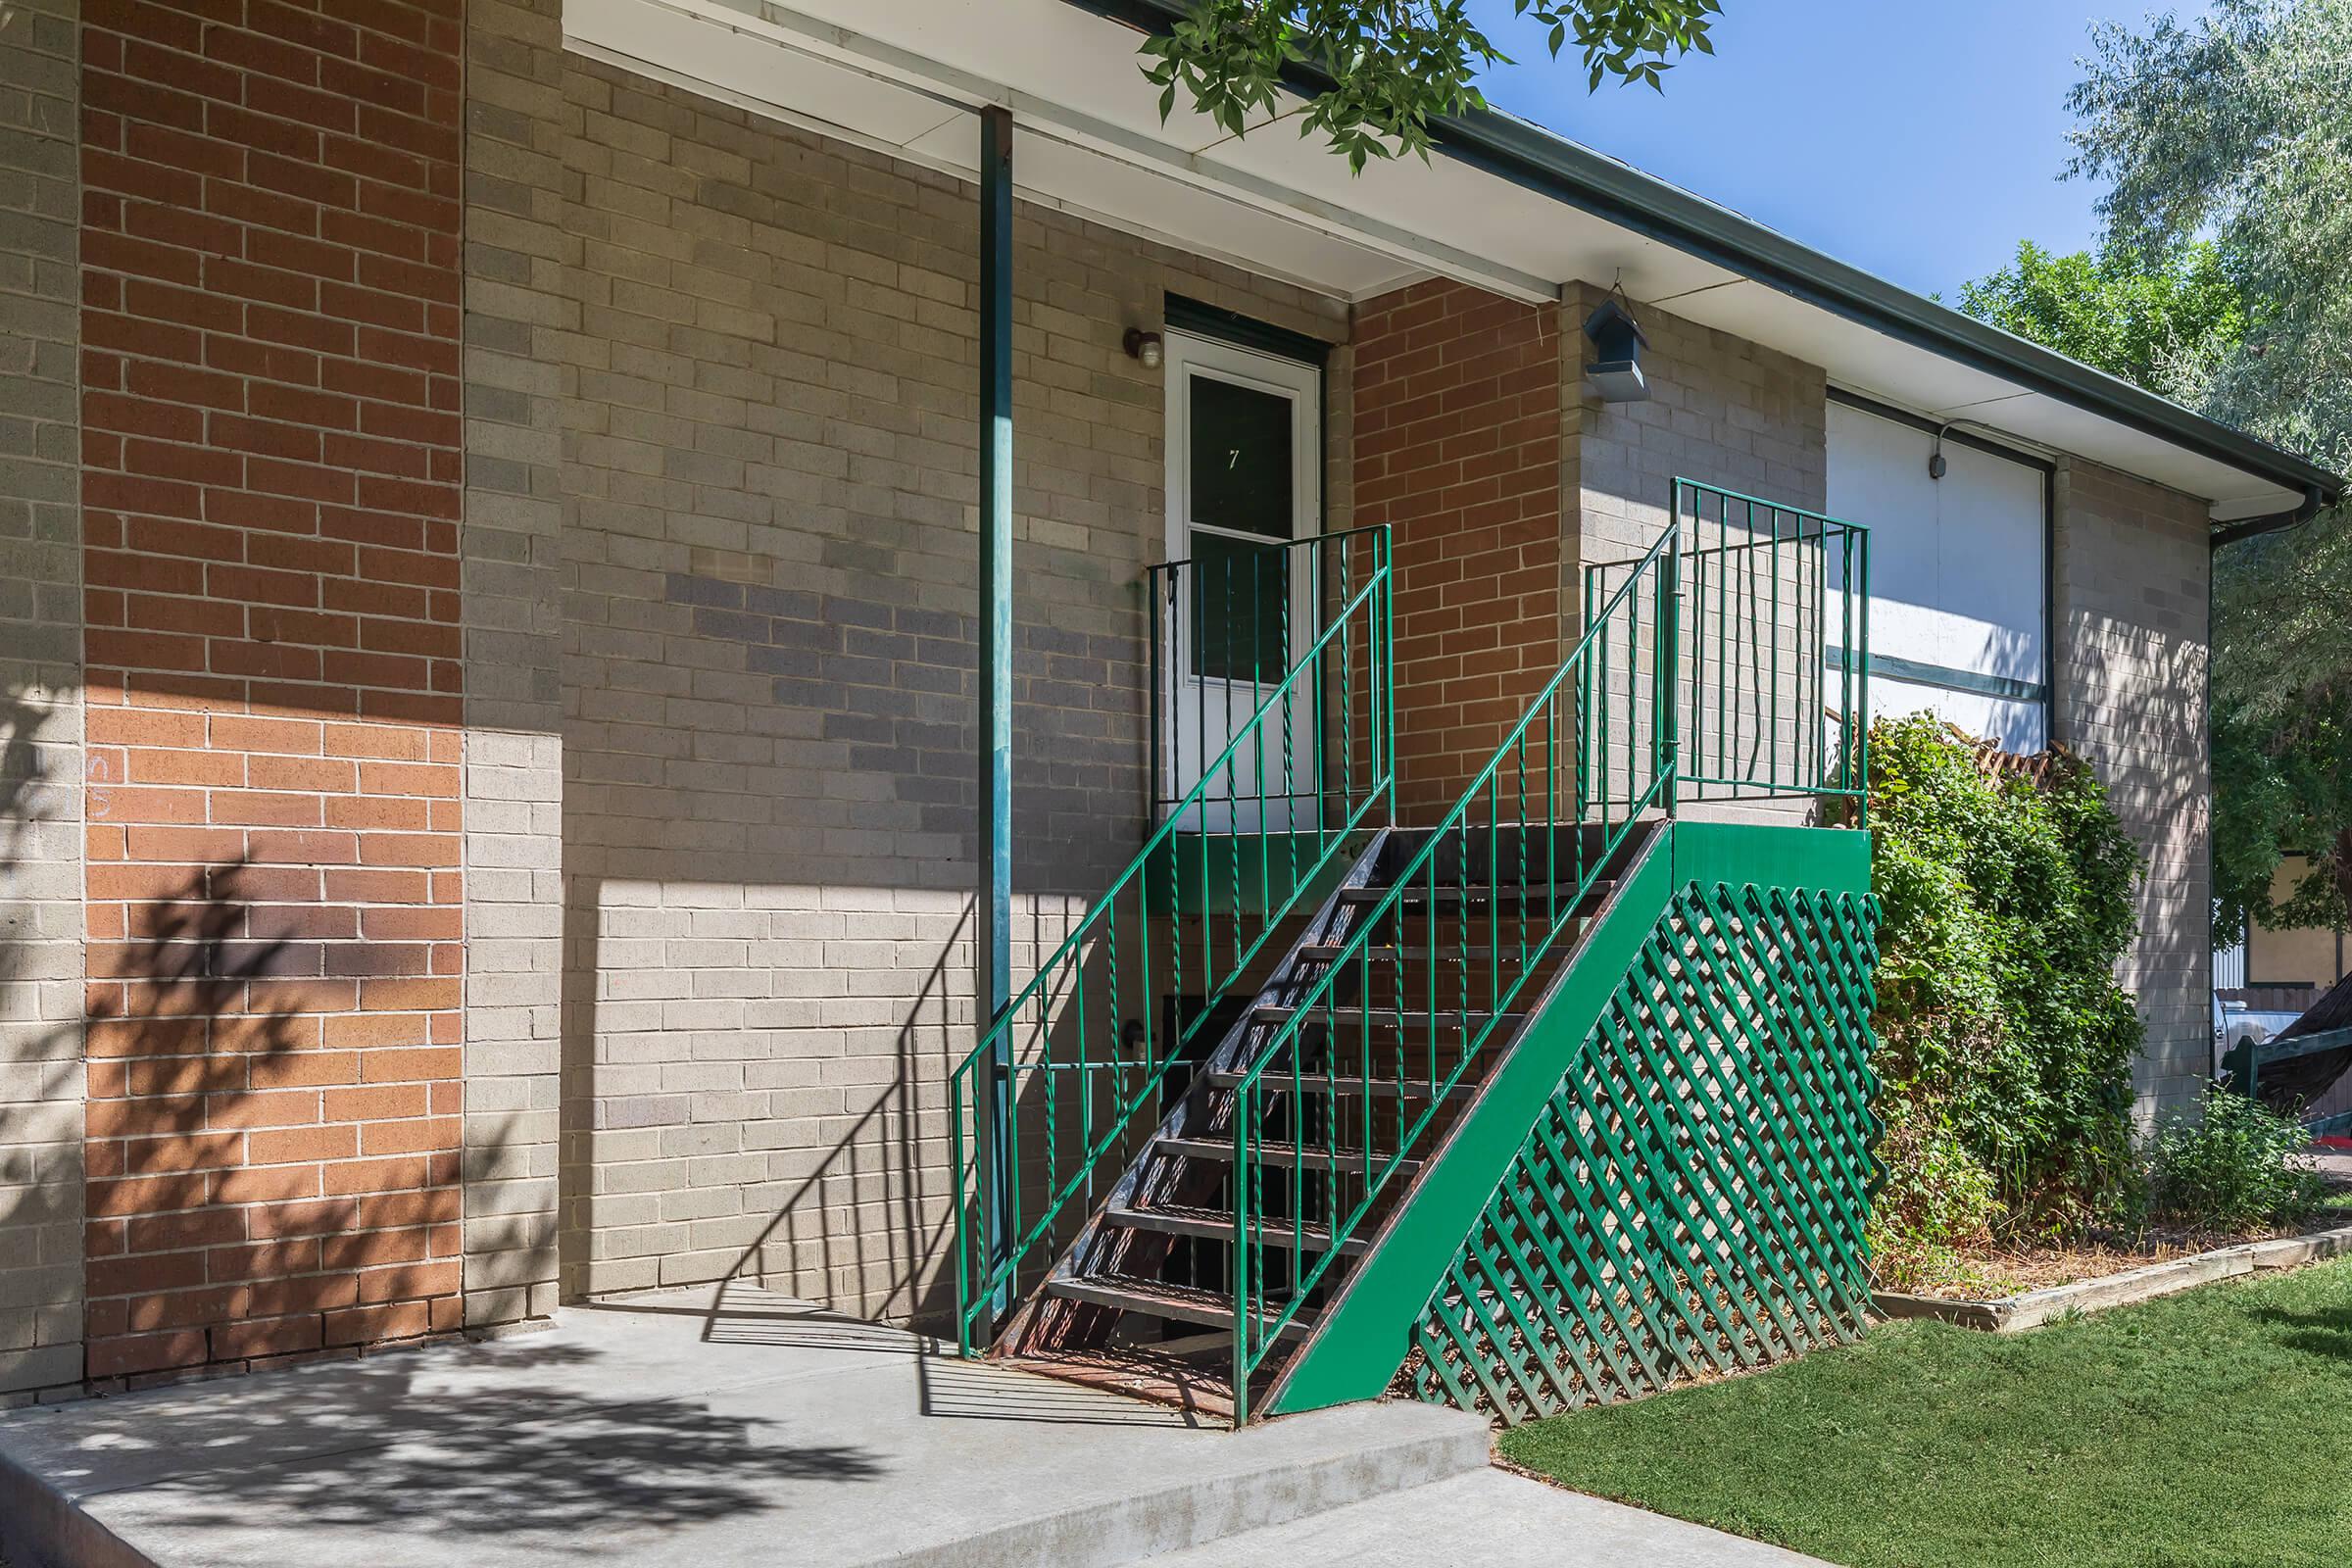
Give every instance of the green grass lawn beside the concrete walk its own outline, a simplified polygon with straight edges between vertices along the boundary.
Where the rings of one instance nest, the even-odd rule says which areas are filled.
[[[1851,1568],[2345,1568],[2352,1260],[2016,1338],[1889,1324],[1501,1448]]]

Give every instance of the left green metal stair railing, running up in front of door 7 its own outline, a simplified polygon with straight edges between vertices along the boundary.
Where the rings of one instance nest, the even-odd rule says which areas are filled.
[[[1221,541],[1152,567],[1148,595],[1157,823],[948,1074],[964,1354],[1157,1128],[1214,1004],[1343,846],[1395,820],[1385,527]]]

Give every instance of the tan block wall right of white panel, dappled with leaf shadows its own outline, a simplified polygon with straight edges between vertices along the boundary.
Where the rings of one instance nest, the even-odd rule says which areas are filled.
[[[2107,783],[2147,853],[2140,940],[2117,966],[2147,1048],[2140,1117],[2197,1098],[2213,1067],[2206,505],[2096,463],[2058,463],[2051,729]]]

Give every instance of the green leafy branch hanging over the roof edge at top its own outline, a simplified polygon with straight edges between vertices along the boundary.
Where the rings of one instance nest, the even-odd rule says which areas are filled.
[[[1663,87],[1677,56],[1715,52],[1719,12],[1722,0],[1512,0],[1550,54],[1576,45],[1592,89],[1609,78]],[[1143,56],[1162,120],[1183,92],[1232,136],[1284,113],[1287,68],[1324,73],[1298,132],[1319,132],[1357,172],[1371,158],[1428,158],[1430,120],[1484,108],[1477,73],[1510,61],[1468,0],[1195,0]]]

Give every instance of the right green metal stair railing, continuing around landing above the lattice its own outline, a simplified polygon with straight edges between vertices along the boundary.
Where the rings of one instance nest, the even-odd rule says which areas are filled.
[[[1642,816],[1867,792],[1867,595],[1863,527],[1693,480],[1644,555],[1585,571],[1576,649],[1235,1091],[1235,1425]]]

